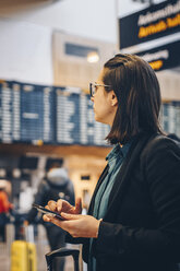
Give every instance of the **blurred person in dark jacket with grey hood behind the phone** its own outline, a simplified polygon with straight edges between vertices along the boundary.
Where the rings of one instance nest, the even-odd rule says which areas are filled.
[[[70,180],[65,168],[63,167],[63,160],[59,162],[51,163],[49,165],[46,178],[43,179],[38,187],[38,191],[35,195],[34,203],[39,205],[46,205],[49,200],[53,199],[55,201],[61,199],[67,200],[70,204],[74,204],[74,188],[73,184]],[[24,225],[33,223],[37,216],[36,209],[32,209],[27,216]],[[51,224],[44,223],[41,220],[49,241],[51,250],[58,249],[65,246],[64,236],[65,233],[62,228]],[[59,271],[64,269],[64,259],[56,259],[53,270]]]

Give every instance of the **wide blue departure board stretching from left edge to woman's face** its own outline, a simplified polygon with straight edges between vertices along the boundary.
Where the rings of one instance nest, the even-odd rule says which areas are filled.
[[[89,95],[76,87],[0,84],[0,142],[107,145]]]

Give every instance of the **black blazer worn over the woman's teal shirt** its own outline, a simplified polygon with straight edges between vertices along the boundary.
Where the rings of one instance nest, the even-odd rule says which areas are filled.
[[[106,166],[92,198],[107,175]],[[87,262],[89,240],[84,239]],[[180,262],[180,148],[159,134],[133,141],[112,187],[92,252],[97,271],[177,271]]]

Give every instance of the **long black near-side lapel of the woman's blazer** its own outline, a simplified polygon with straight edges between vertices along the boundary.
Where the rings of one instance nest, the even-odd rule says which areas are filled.
[[[120,168],[119,174],[117,175],[116,181],[113,184],[112,190],[109,196],[109,204],[108,210],[105,215],[105,221],[110,221],[113,217],[116,211],[120,209],[120,203],[125,195],[125,188],[128,187],[129,180],[131,179],[131,174],[134,168],[134,165],[145,146],[146,142],[148,141],[149,136],[141,134],[134,142],[132,143],[128,155]],[[118,199],[118,204],[115,204]]]

